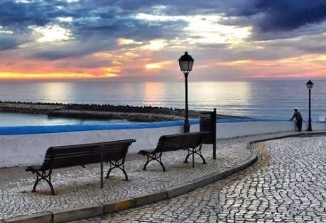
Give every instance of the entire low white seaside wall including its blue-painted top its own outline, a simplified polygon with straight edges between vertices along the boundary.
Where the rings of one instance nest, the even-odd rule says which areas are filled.
[[[307,123],[303,123],[303,130]],[[191,120],[191,132],[199,130],[198,120]],[[295,130],[290,121],[218,122],[217,138],[242,137]],[[324,123],[313,123],[313,130],[326,130]],[[0,127],[0,167],[41,164],[50,146],[136,139],[129,149],[152,149],[161,135],[183,131],[183,122],[153,122],[118,125],[72,125],[49,127]],[[45,133],[47,132],[47,133]]]

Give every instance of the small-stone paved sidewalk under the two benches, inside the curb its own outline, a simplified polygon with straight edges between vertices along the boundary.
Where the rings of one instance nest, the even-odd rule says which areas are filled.
[[[211,147],[203,147],[208,164],[201,164],[201,160],[196,159],[195,168],[191,168],[190,163],[184,164],[186,151],[165,153],[162,160],[167,172],[155,162],[147,166],[147,171],[142,171],[145,156],[130,155],[125,162],[130,181],[124,181],[122,171],[113,171],[113,176],[104,181],[103,190],[99,187],[99,164],[56,169],[52,174],[56,196],[49,195],[50,188],[44,182],[38,185],[37,193],[31,193],[35,176],[24,171],[25,168],[0,168],[0,219],[164,190],[210,173],[223,172],[251,156],[246,142],[239,139],[220,140],[217,160],[211,159]]]

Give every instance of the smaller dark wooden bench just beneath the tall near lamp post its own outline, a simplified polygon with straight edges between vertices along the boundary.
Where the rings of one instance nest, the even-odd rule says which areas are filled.
[[[147,161],[142,169],[146,171],[147,164],[154,160],[159,162],[163,168],[163,171],[165,171],[165,167],[162,163],[162,153],[180,149],[186,149],[188,151],[186,159],[184,160],[185,163],[188,163],[188,158],[192,155],[194,167],[194,155],[198,154],[198,156],[200,156],[203,160],[203,164],[206,164],[205,159],[201,155],[201,144],[203,142],[204,135],[207,135],[208,133],[209,132],[189,132],[176,135],[162,135],[159,137],[159,142],[157,143],[157,147],[155,149],[138,151],[138,154],[147,156]]]

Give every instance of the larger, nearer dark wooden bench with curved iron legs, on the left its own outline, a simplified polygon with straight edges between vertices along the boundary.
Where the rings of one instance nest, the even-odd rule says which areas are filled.
[[[55,190],[51,183],[52,170],[55,168],[84,167],[86,164],[96,163],[101,163],[101,188],[103,188],[103,162],[110,164],[106,178],[109,177],[114,168],[120,168],[125,175],[125,180],[128,181],[128,175],[125,172],[124,166],[125,155],[130,144],[135,141],[135,139],[125,139],[112,142],[49,147],[41,166],[28,166],[26,168],[26,171],[36,173],[36,181],[32,192],[35,192],[36,186],[41,180],[45,180],[50,185],[52,195],[55,195]]]

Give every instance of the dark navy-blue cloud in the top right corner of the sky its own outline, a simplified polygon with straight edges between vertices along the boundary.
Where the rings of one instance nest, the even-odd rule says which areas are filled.
[[[325,0],[252,0],[235,11],[253,18],[260,32],[288,31],[326,20]],[[256,18],[255,18],[256,16]]]

